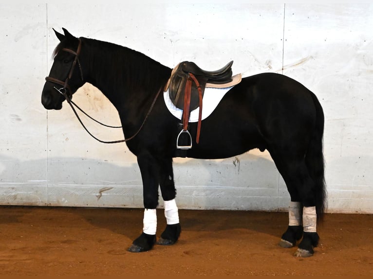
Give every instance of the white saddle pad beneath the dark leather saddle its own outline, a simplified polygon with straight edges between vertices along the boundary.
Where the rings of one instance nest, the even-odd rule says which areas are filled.
[[[206,119],[214,109],[219,105],[220,101],[223,99],[226,92],[228,92],[232,87],[226,88],[205,88],[203,105],[202,105],[202,120]],[[163,97],[165,99],[166,106],[169,112],[178,119],[181,119],[183,116],[183,110],[177,108],[169,98],[168,90],[163,93]],[[197,107],[196,109],[190,112],[189,122],[198,122],[198,114],[200,108]]]

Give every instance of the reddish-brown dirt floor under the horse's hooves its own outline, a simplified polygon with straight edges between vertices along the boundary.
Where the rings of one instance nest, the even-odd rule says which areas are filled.
[[[303,259],[278,245],[287,213],[179,214],[177,244],[130,253],[142,209],[0,207],[0,275],[373,275],[373,215],[327,214]]]

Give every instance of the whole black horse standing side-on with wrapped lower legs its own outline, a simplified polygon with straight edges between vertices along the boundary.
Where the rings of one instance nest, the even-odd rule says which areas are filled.
[[[175,203],[172,158],[180,157],[176,139],[180,120],[163,98],[157,98],[171,69],[129,48],[55,31],[60,43],[46,78],[41,102],[61,109],[86,82],[115,106],[129,150],[137,157],[143,181],[144,229],[129,251],[150,250],[154,244],[174,244],[181,232]],[[298,244],[295,256],[314,254],[316,231],[326,208],[324,181],[324,114],[317,97],[297,81],[276,73],[245,77],[230,89],[203,120],[197,144],[197,123],[188,128],[193,147],[186,157],[214,159],[268,150],[291,196],[289,226],[280,245]],[[167,227],[156,242],[158,187],[165,201]]]

